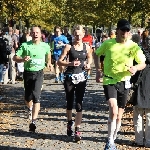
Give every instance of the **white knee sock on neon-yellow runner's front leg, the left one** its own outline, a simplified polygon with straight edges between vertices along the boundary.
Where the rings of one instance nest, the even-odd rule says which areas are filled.
[[[114,132],[116,130],[116,120],[108,118],[108,141],[110,144],[114,144]]]

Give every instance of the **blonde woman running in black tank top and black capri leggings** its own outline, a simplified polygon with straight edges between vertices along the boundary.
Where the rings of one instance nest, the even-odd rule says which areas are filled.
[[[81,25],[77,25],[73,30],[75,37],[73,46],[66,45],[59,60],[59,66],[66,66],[64,88],[66,92],[67,101],[67,135],[73,134],[73,120],[72,109],[74,102],[76,102],[76,117],[75,117],[75,141],[78,142],[81,139],[79,128],[82,121],[82,101],[86,87],[85,70],[90,69],[92,63],[92,53],[90,52],[90,46],[82,43],[84,37],[84,29]],[[69,62],[63,61],[66,55],[69,55]]]

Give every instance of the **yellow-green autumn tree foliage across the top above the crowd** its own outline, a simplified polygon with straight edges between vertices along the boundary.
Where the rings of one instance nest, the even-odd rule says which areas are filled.
[[[74,24],[111,27],[120,18],[144,26],[150,15],[147,0],[0,0],[0,6],[3,18],[40,24],[48,30]]]

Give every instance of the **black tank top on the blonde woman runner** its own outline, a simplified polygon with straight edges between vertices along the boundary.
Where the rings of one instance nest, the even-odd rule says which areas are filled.
[[[69,55],[69,62],[72,62],[78,58],[81,64],[79,66],[68,66],[66,68],[65,73],[66,74],[78,74],[78,73],[83,72],[84,61],[86,60],[86,55],[87,55],[86,45],[83,44],[83,50],[81,51],[77,51],[75,50],[74,46],[71,46],[68,55]]]

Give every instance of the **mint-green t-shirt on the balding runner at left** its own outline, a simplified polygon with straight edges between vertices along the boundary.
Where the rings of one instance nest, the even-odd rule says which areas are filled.
[[[23,43],[16,55],[24,58],[30,56],[29,61],[24,62],[27,71],[39,71],[45,67],[45,56],[50,53],[50,46],[45,42],[34,44],[32,41]]]

